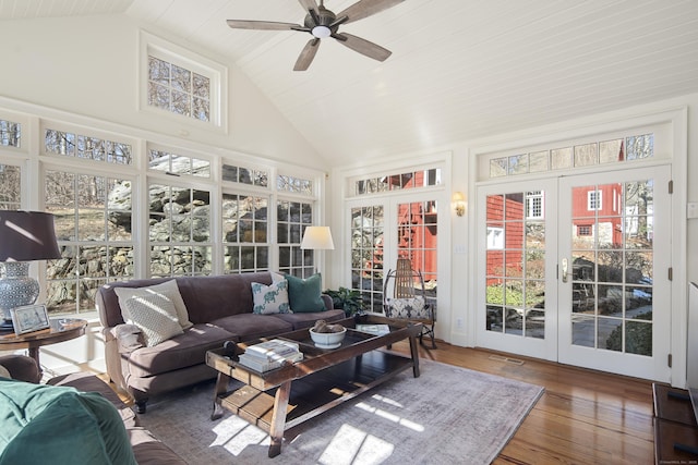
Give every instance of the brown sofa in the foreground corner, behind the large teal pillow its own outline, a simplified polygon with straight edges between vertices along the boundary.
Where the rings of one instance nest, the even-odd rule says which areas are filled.
[[[0,365],[8,369],[13,379],[37,383],[40,372],[33,358],[24,355],[0,356]],[[50,379],[47,384],[67,386],[83,392],[98,392],[111,402],[125,427],[133,454],[139,465],[185,465],[179,455],[170,448],[155,438],[151,431],[143,428],[139,423],[139,417],[127,406],[119,396],[109,388],[107,383],[94,375],[77,372],[63,375]],[[60,431],[56,432],[52,440],[60,440]],[[45,438],[48,440],[48,438]]]

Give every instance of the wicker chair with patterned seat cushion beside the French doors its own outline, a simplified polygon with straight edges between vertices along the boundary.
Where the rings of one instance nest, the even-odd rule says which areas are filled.
[[[426,302],[424,277],[420,270],[412,269],[408,258],[398,258],[396,269],[388,270],[385,276],[383,310],[388,318],[408,319],[422,323],[420,344],[423,344],[423,336],[426,335],[431,339],[432,348],[436,348],[434,341],[436,321],[434,308]]]

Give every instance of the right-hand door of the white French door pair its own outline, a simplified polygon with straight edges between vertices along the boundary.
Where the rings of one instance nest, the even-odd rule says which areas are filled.
[[[559,362],[669,381],[670,169],[588,180],[559,184]]]

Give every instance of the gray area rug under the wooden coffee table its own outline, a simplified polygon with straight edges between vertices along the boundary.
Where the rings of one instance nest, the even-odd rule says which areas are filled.
[[[192,465],[489,464],[514,436],[543,388],[420,360],[407,370],[287,431],[281,454],[231,413],[209,419],[214,383],[153,399],[141,420]]]

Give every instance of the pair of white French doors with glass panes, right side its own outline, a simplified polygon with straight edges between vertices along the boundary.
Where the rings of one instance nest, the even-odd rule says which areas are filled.
[[[477,344],[670,381],[670,168],[478,188]]]

